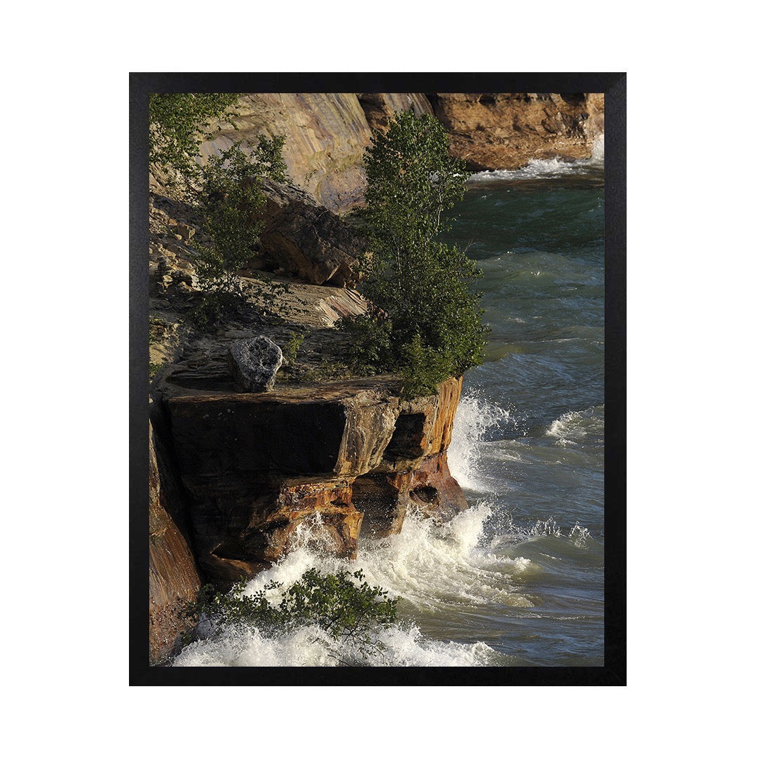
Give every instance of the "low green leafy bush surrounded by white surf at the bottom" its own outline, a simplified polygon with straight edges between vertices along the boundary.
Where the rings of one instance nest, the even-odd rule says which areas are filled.
[[[313,568],[291,584],[278,603],[269,599],[269,593],[282,587],[277,581],[270,581],[251,596],[244,593],[247,584],[244,580],[234,584],[228,593],[220,593],[208,584],[184,614],[195,620],[205,615],[217,630],[250,624],[267,635],[317,626],[332,640],[349,641],[366,658],[378,651],[375,631],[397,622],[400,600],[388,599],[385,590],[369,586],[363,578],[359,570],[323,574]]]

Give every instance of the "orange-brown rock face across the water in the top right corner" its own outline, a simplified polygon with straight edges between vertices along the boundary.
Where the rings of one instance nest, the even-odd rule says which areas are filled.
[[[520,168],[529,160],[590,157],[604,132],[604,95],[503,92],[429,95],[470,170]]]

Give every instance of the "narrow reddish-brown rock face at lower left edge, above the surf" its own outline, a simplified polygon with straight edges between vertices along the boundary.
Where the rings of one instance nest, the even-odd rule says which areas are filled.
[[[150,425],[150,662],[163,662],[176,648],[182,631],[192,623],[182,618],[185,602],[192,602],[200,588],[200,578],[192,550],[179,529],[186,528],[185,503],[173,481],[167,451],[155,438]]]

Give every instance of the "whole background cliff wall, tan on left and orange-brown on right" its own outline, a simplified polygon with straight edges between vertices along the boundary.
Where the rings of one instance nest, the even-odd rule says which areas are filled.
[[[283,157],[298,187],[338,213],[363,200],[363,151],[395,111],[431,113],[450,135],[450,152],[471,170],[520,168],[534,158],[589,157],[604,131],[604,95],[578,92],[263,93],[240,98],[228,125],[201,146],[204,157],[239,139],[286,137]]]

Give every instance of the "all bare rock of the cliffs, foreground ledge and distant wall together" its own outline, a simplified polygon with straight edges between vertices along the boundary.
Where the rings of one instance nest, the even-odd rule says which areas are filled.
[[[223,587],[299,545],[353,558],[360,537],[397,533],[408,512],[446,520],[467,507],[447,466],[459,378],[412,401],[395,378],[334,382],[344,353],[332,348],[346,349],[347,336],[333,326],[367,303],[344,288],[357,282],[365,241],[332,211],[362,201],[371,129],[407,107],[433,111],[474,170],[587,157],[603,132],[603,95],[585,93],[243,95],[238,129],[223,126],[203,154],[284,135],[300,188],[266,184],[261,268],[242,272],[244,307],[212,332],[191,325],[192,260],[207,238],[192,207],[152,195],[150,360],[165,422],[150,447],[151,662],[189,630],[180,610],[201,581]],[[240,393],[229,347],[257,335],[301,349],[275,390]]]

